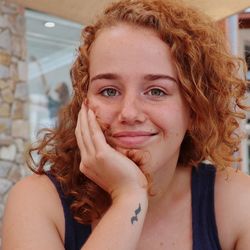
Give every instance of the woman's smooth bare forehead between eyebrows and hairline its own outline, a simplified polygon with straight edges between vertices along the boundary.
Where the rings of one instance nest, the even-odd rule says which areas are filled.
[[[173,64],[169,46],[155,32],[125,25],[103,30],[92,44],[89,59],[95,68],[161,68]]]

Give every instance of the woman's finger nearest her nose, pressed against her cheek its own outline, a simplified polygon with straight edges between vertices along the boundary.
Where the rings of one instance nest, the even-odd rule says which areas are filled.
[[[91,109],[88,110],[88,120],[90,134],[96,151],[103,149],[105,146],[107,147],[108,144],[106,142],[105,136],[96,120],[94,112]]]

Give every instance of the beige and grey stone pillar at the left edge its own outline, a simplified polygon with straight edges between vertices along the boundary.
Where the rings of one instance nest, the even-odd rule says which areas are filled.
[[[2,0],[0,1],[0,236],[7,193],[26,175],[23,153],[30,137],[26,60],[24,8]]]

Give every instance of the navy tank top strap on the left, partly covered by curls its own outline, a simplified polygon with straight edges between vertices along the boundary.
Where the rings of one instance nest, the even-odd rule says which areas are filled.
[[[50,172],[47,172],[46,175],[56,187],[63,206],[65,219],[64,247],[66,250],[79,250],[91,233],[91,225],[80,224],[74,219],[70,210],[72,199],[65,196],[62,187],[55,176],[53,176]]]

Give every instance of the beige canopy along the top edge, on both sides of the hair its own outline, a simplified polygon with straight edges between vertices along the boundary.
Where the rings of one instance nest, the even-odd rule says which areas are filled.
[[[7,0],[81,24],[88,24],[108,3],[117,0]],[[183,0],[215,20],[250,7],[250,0]]]

